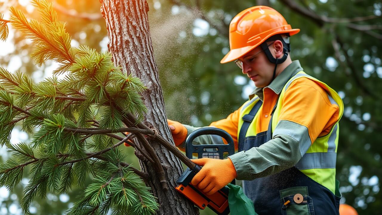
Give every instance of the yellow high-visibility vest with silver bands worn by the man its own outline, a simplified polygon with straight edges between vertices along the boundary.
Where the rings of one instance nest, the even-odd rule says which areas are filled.
[[[340,96],[335,92],[332,88],[330,88],[328,85],[323,83],[320,80],[317,80],[314,77],[311,77],[310,75],[304,73],[303,71],[300,71],[296,73],[290,80],[288,80],[283,87],[279,99],[277,101],[277,106],[274,110],[274,114],[272,115],[272,124],[270,125],[271,132],[276,128],[276,125],[278,123],[278,118],[280,116],[280,111],[282,109],[282,101],[283,96],[285,92],[288,90],[288,87],[290,84],[297,80],[298,78],[309,78],[313,81],[315,81],[317,84],[319,84],[322,88],[324,88],[327,91],[327,95],[329,97],[329,100],[332,104],[337,104],[339,107],[339,117],[338,121],[342,117],[343,114],[343,102]],[[253,99],[247,101],[244,103],[243,108],[240,112],[239,122],[238,122],[238,137],[241,130],[241,127],[243,125],[243,116],[248,114],[251,109],[255,106],[257,102],[259,102],[260,99],[255,96]],[[262,106],[260,107],[262,108]],[[259,112],[257,111],[256,115],[254,116],[251,124],[249,124],[248,130],[246,132],[245,137],[251,137],[256,136],[256,121],[259,116]],[[319,116],[317,116],[319,117]],[[329,134],[318,137],[312,145],[308,148],[308,151],[303,155],[301,160],[295,165],[295,167],[304,173],[309,178],[313,179],[314,181],[318,182],[324,187],[327,187],[330,191],[335,193],[335,166],[336,166],[336,158],[337,158],[337,148],[338,148],[338,132],[339,132],[339,125],[338,121],[333,125],[332,129],[330,130]],[[240,140],[239,140],[240,141]],[[240,151],[240,144],[239,144],[239,151]]]

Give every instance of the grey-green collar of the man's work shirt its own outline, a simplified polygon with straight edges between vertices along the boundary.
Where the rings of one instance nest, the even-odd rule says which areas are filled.
[[[286,82],[288,82],[291,77],[302,70],[303,68],[301,67],[300,62],[298,60],[294,60],[279,75],[277,75],[277,77],[268,86],[264,88],[269,88],[276,94],[280,94]],[[254,91],[249,94],[249,99],[252,99],[256,95],[259,96],[261,101],[263,101],[264,88],[255,87]]]

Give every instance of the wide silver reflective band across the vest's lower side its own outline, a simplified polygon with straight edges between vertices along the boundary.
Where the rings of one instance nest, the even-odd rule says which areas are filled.
[[[299,170],[303,169],[335,169],[337,153],[314,152],[306,153],[295,165]]]

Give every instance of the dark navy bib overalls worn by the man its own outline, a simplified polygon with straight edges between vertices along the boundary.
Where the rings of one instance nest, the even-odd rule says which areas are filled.
[[[243,116],[244,123],[239,133],[239,151],[259,147],[272,139],[272,118],[267,131],[260,132],[256,136],[245,137],[249,124],[261,105],[262,101],[258,101],[249,114]],[[334,195],[329,189],[309,178],[296,167],[253,181],[243,181],[243,189],[244,193],[253,201],[255,211],[259,215],[339,214],[341,197],[336,196],[338,181],[336,181],[336,195]],[[303,196],[302,201],[299,194]],[[340,195],[339,192],[338,195]]]

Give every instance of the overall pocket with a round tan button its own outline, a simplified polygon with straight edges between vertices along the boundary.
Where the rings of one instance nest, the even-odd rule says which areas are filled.
[[[314,215],[308,187],[290,187],[280,191],[282,215]]]

